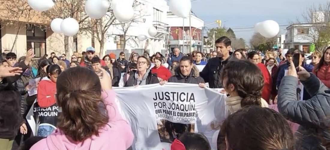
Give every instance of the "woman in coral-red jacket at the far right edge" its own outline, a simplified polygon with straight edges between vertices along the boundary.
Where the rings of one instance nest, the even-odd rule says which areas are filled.
[[[313,74],[330,88],[330,47],[324,51],[320,62],[314,67]]]

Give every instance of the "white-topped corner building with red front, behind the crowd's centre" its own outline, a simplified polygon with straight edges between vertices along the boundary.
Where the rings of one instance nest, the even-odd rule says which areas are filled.
[[[175,47],[179,47],[182,53],[189,53],[194,50],[203,50],[202,27],[204,26],[204,21],[202,19],[192,13],[190,17],[183,19],[182,17],[178,17],[169,12],[167,13],[167,21],[171,33],[169,41],[170,51],[172,51]]]

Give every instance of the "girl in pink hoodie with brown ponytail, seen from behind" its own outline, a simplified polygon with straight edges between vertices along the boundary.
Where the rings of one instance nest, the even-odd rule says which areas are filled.
[[[110,76],[74,67],[57,80],[56,102],[62,109],[56,130],[30,150],[126,150],[133,142],[129,124],[115,103]],[[102,88],[101,88],[102,87]]]

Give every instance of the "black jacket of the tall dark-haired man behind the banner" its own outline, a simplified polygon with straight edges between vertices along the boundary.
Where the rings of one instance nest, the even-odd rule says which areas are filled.
[[[210,88],[222,88],[221,72],[224,66],[229,62],[237,60],[234,55],[230,55],[226,60],[221,60],[220,57],[212,58],[208,61],[205,68],[200,72],[200,76],[205,82],[209,82]]]

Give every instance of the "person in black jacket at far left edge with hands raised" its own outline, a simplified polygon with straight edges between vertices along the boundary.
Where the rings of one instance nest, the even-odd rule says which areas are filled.
[[[18,68],[26,70],[33,57],[33,50],[30,49],[27,52],[25,61],[20,62]],[[4,74],[7,68],[12,69],[11,67],[0,66],[0,74]],[[8,74],[10,74],[9,71]],[[13,86],[13,83],[15,83],[22,74],[23,72],[12,77],[10,77],[11,75],[0,76],[0,149],[11,149],[19,129],[22,134],[26,134],[27,132],[25,121],[20,112],[21,94],[17,91],[17,88]]]

